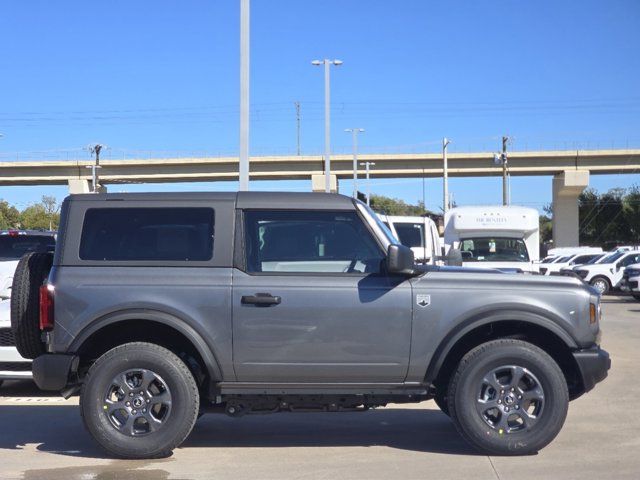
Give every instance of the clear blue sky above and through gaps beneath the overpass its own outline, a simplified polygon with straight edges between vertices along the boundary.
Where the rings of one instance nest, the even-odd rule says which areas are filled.
[[[253,0],[251,152],[323,142],[322,75],[332,72],[334,151],[363,127],[363,151],[640,147],[640,3],[601,1]],[[30,1],[0,7],[0,160],[236,154],[239,2]],[[592,177],[599,190],[640,175]],[[307,190],[310,182],[253,189]],[[350,183],[341,183],[350,192]],[[441,182],[426,182],[427,205]],[[236,183],[126,185],[121,190],[237,188]],[[459,204],[497,203],[500,179],[453,179]],[[422,197],[419,179],[372,181]],[[0,187],[26,205],[64,187]],[[512,180],[514,203],[551,200],[548,177]]]

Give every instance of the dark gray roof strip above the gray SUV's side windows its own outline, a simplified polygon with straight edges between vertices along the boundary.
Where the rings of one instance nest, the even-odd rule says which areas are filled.
[[[144,192],[81,193],[67,201],[232,201],[238,208],[291,208],[352,210],[353,199],[336,193],[321,192]]]

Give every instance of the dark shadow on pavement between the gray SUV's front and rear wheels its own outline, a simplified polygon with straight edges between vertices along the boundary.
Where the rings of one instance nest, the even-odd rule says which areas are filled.
[[[479,455],[440,410],[387,407],[367,412],[205,415],[183,447],[371,447]]]

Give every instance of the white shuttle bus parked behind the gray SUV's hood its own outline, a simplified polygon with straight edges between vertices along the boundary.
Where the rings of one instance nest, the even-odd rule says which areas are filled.
[[[464,266],[538,272],[537,210],[515,206],[457,207],[445,215],[444,243]]]

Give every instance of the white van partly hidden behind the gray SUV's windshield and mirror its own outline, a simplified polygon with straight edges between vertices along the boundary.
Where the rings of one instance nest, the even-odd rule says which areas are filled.
[[[418,263],[435,265],[442,256],[436,223],[429,217],[378,215],[401,244],[410,247]]]

